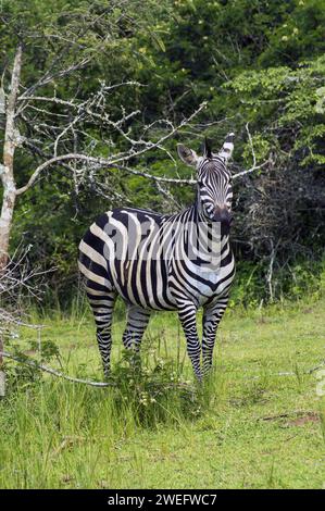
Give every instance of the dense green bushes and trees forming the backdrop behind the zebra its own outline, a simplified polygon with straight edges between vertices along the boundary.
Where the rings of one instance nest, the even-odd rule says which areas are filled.
[[[324,2],[4,1],[0,72],[12,65],[21,39],[24,78],[33,83],[63,41],[93,14],[96,23],[78,34],[78,53],[66,55],[71,62],[79,53],[90,55],[89,64],[73,78],[58,79],[58,97],[71,98],[77,86],[87,98],[99,79],[145,85],[132,92],[118,89],[111,97],[113,115],[118,116],[121,105],[141,112],[141,122],[132,124],[134,133],[137,123],[182,121],[208,101],[200,119],[167,142],[171,153],[179,137],[198,149],[205,135],[218,147],[232,129],[234,173],[249,169],[253,159],[263,164],[235,184],[238,278],[233,300],[259,303],[297,297],[307,286],[317,292],[325,240]],[[103,38],[107,34],[110,37]],[[41,92],[51,94],[46,87]],[[105,154],[105,133],[98,138],[102,142],[96,153]],[[47,147],[46,140],[41,144]],[[114,144],[123,149],[118,135]],[[16,155],[18,184],[39,158],[33,147],[27,149]],[[137,165],[154,175],[189,176],[157,149]],[[99,212],[124,203],[172,212],[193,197],[188,186],[167,185],[162,194],[153,182],[123,172],[102,172],[101,178],[103,188],[91,186],[91,180],[76,187],[65,169],[58,167],[17,201],[12,250],[23,238],[32,246],[30,265],[55,267],[47,277],[49,295],[65,303],[74,294],[78,241]]]

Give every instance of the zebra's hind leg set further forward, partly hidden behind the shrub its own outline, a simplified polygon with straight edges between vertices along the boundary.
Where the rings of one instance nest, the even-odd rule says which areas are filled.
[[[130,304],[127,309],[126,328],[123,334],[123,345],[126,349],[140,351],[141,340],[150,320],[150,311]]]

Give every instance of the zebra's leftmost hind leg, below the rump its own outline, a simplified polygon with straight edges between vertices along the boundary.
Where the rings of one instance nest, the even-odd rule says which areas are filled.
[[[87,287],[87,296],[93,312],[97,341],[102,359],[104,376],[111,371],[112,316],[116,298],[115,290],[95,290]]]

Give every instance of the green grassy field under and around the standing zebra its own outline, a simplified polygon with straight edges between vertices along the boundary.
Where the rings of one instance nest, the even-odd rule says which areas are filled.
[[[324,487],[322,374],[308,374],[325,358],[324,307],[229,311],[215,371],[201,389],[193,387],[176,315],[152,319],[142,378],[127,359],[118,362],[116,320],[116,387],[45,376],[0,401],[0,487]],[[65,372],[101,379],[90,316],[41,321],[41,345],[55,340]],[[23,331],[23,346],[33,339],[39,341],[37,332]],[[179,378],[190,383],[173,387]]]

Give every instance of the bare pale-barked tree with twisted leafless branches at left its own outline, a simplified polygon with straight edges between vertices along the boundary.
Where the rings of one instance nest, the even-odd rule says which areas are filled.
[[[136,162],[147,151],[165,150],[165,141],[186,126],[202,111],[201,104],[192,115],[174,125],[168,120],[139,127],[133,133],[132,121],[139,116],[138,110],[126,112],[122,107],[120,119],[110,111],[110,96],[121,87],[139,87],[136,82],[124,82],[107,85],[99,84],[98,90],[86,99],[75,96],[71,100],[61,99],[52,86],[52,94],[38,92],[42,88],[49,91],[49,85],[60,78],[73,75],[87,64],[87,60],[61,68],[59,72],[48,70],[36,84],[24,87],[22,83],[23,51],[16,49],[11,82],[8,94],[4,89],[4,144],[3,163],[0,166],[3,186],[2,209],[0,216],[0,270],[8,262],[9,240],[16,198],[27,191],[49,169],[63,167],[71,173],[75,186],[83,179],[96,179],[96,172],[102,169],[116,169],[151,178],[157,182],[179,182],[186,179],[168,179],[150,174],[147,170],[134,169]],[[55,109],[53,109],[53,105]],[[89,129],[91,127],[91,129]],[[110,155],[98,155],[98,146],[103,142],[100,134],[105,133],[104,142]],[[116,151],[115,137],[123,140],[125,149]],[[27,183],[16,186],[14,157],[17,148],[32,151],[38,164],[32,171]],[[82,150],[79,150],[82,148]]]

